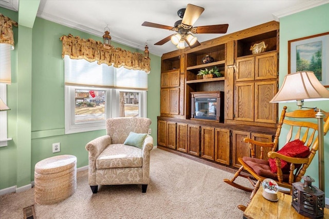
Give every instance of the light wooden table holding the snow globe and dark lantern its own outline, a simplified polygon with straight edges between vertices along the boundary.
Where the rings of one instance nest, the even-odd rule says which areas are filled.
[[[271,202],[263,197],[263,187],[260,186],[259,190],[252,198],[250,204],[243,214],[245,219],[271,219],[271,218],[309,218],[299,214],[293,206],[291,206],[291,195],[278,192],[278,202]],[[329,209],[324,209],[324,217],[329,218]]]

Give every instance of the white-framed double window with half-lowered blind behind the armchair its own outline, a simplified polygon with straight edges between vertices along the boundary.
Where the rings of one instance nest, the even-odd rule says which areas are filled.
[[[65,134],[105,129],[112,117],[145,117],[147,74],[64,57]]]

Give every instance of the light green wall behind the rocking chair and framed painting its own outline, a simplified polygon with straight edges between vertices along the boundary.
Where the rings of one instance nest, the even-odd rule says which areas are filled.
[[[280,61],[279,61],[279,78],[280,87],[283,79],[288,71],[288,41],[304,36],[310,36],[318,33],[329,31],[329,4],[318,6],[306,11],[281,17],[280,19]],[[329,60],[323,60],[329,64]],[[329,72],[325,72],[329,75]],[[298,109],[296,103],[280,103],[279,113],[282,107],[286,105],[288,111]],[[304,106],[323,109],[329,112],[329,101],[305,102]],[[282,130],[282,134],[286,134],[287,130]],[[279,140],[280,148],[283,146],[284,140]],[[325,165],[325,197],[329,197],[329,134],[324,136],[324,165]],[[318,186],[318,156],[316,155],[311,165],[307,168],[306,174],[315,179],[314,185]]]

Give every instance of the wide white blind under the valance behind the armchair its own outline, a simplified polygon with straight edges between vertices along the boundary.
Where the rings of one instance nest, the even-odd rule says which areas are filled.
[[[148,89],[148,74],[142,70],[115,68],[107,64],[64,56],[65,85],[120,89]]]

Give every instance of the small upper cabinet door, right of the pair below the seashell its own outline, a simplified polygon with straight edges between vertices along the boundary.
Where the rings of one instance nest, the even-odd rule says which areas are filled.
[[[277,52],[255,57],[255,80],[278,78]]]

